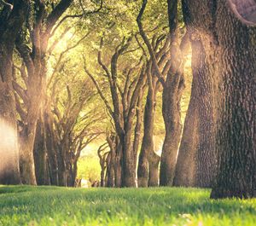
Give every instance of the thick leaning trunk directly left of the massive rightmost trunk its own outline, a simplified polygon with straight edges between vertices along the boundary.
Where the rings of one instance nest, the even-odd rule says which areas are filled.
[[[192,47],[193,84],[177,157],[176,186],[209,188],[215,177],[214,78],[217,72],[217,41],[212,16],[215,10],[213,3],[183,1],[183,14]],[[206,22],[202,24],[202,20]]]

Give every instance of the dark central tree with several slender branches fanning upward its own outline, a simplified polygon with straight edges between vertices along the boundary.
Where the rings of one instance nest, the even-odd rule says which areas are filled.
[[[125,51],[129,53],[127,49],[131,45],[131,40],[132,37],[123,38],[121,43],[115,47],[114,53],[111,56],[111,66],[109,69],[102,61],[103,38],[101,39],[100,50],[98,51],[98,64],[102,67],[105,77],[108,79],[111,104],[103,95],[96,78],[94,78],[86,67],[84,68],[85,72],[96,85],[96,90],[105,103],[108,113],[113,119],[114,129],[119,136],[119,154],[116,158],[120,159],[121,184],[117,184],[117,186],[122,187],[136,186],[137,150],[134,149],[133,142],[137,139],[132,139],[132,130],[133,121],[136,119],[136,107],[137,101],[140,99],[140,90],[143,88],[146,80],[145,67],[143,65],[143,58],[141,57],[138,63],[127,65],[126,70],[123,71],[124,79],[122,82],[125,85],[122,88],[119,84],[119,80],[122,80],[122,77],[119,76],[118,61],[121,55],[125,55]],[[111,105],[113,105],[113,108]],[[139,136],[139,133],[136,133],[135,136]]]

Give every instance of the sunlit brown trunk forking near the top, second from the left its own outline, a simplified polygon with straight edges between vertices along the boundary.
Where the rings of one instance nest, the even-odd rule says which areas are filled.
[[[72,3],[72,0],[61,0],[52,11],[47,14],[43,2],[34,4],[34,17],[32,30],[30,31],[31,43],[26,43],[26,38],[16,39],[16,47],[26,65],[27,83],[26,95],[20,96],[26,105],[26,118],[23,120],[20,131],[20,174],[23,183],[36,184],[33,144],[39,116],[39,110],[43,103],[46,83],[46,52],[50,34],[55,22],[61,17]],[[32,51],[27,45],[32,45]],[[20,95],[20,92],[16,90]]]

